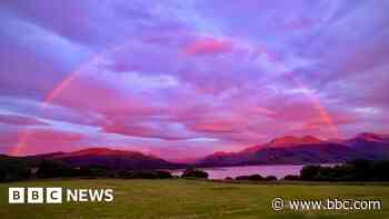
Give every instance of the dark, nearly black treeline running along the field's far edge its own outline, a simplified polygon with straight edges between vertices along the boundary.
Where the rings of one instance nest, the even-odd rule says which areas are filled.
[[[300,181],[389,181],[389,160],[355,160],[337,166],[305,166],[299,176],[286,176],[283,180]],[[58,160],[0,159],[0,182],[49,178],[120,178],[120,179],[169,179],[173,176],[162,170],[112,170],[106,167],[69,167]],[[203,170],[189,168],[181,178],[207,179]],[[273,176],[240,176],[226,180],[276,181]]]

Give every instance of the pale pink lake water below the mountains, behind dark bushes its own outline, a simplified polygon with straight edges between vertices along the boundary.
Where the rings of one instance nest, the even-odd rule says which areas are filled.
[[[239,166],[220,168],[201,168],[209,175],[209,179],[236,178],[239,176],[261,175],[262,177],[275,176],[281,179],[287,175],[299,175],[302,165],[259,165],[259,166]],[[181,176],[183,170],[174,170],[173,176]]]

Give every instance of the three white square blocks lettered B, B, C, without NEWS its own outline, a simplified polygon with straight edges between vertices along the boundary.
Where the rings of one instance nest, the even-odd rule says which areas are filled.
[[[46,196],[44,196],[46,190]],[[62,188],[13,187],[8,189],[9,203],[62,203]],[[27,199],[27,200],[26,200]]]

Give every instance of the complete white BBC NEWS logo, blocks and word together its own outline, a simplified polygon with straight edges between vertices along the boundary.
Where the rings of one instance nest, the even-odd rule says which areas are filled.
[[[12,187],[8,189],[9,203],[111,202],[112,189],[64,189],[60,187]]]

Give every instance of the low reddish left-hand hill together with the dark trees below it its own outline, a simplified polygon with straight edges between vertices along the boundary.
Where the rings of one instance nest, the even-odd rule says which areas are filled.
[[[170,178],[159,170],[186,167],[140,152],[107,148],[27,157],[0,155],[0,182],[59,177]]]

